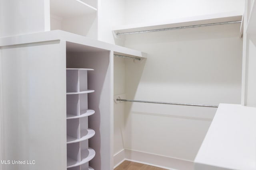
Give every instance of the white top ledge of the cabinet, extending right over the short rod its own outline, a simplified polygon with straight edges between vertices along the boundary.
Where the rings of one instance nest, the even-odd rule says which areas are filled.
[[[52,41],[58,43],[59,40],[66,41],[67,52],[100,52],[114,51],[132,57],[146,58],[146,53],[126,47],[90,39],[82,35],[77,35],[62,30],[44,31],[25,35],[0,38],[0,47],[8,45],[30,44],[38,42]]]

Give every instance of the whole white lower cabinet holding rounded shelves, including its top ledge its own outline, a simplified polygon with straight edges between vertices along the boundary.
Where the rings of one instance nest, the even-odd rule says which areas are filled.
[[[114,53],[144,55],[60,30],[0,38],[2,159],[113,169]]]

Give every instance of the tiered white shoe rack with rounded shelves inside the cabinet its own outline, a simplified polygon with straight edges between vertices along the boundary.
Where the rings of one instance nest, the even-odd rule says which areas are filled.
[[[87,71],[93,69],[67,68],[67,169],[93,170],[89,161],[95,156],[95,151],[88,147],[88,139],[95,131],[88,128],[88,116],[95,113],[88,109]]]

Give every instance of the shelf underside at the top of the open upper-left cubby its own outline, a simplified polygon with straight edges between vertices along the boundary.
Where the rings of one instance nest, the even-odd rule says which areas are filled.
[[[50,13],[60,18],[81,16],[96,11],[96,8],[81,0],[50,0]]]

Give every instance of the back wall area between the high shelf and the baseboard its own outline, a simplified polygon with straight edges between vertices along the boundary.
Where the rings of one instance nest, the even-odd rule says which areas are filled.
[[[126,63],[126,98],[192,104],[240,103],[240,25],[126,36],[148,53]],[[126,103],[125,148],[193,161],[215,108]]]

